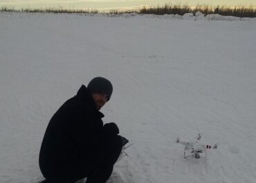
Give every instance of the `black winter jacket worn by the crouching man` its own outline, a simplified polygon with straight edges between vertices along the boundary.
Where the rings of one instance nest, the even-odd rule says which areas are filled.
[[[102,117],[82,85],[77,95],[57,110],[46,128],[39,153],[42,172],[77,166],[89,171],[93,164],[100,162],[104,154],[102,144],[107,140]]]

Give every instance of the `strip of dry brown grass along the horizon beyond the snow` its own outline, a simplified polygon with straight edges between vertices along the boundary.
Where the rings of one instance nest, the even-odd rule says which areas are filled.
[[[51,13],[98,13],[98,10],[84,10],[84,9],[67,9],[67,8],[21,8],[16,10],[10,7],[1,7],[2,12],[51,12]],[[209,14],[219,14],[223,16],[234,16],[234,17],[256,17],[256,7],[255,6],[208,6],[208,5],[198,5],[196,7],[190,7],[188,5],[181,4],[165,4],[164,6],[151,6],[143,7],[140,10],[110,10],[105,12],[111,15],[120,15],[124,13],[138,13],[138,14],[154,14],[154,15],[184,15],[185,13],[193,13],[200,11],[204,15]]]

